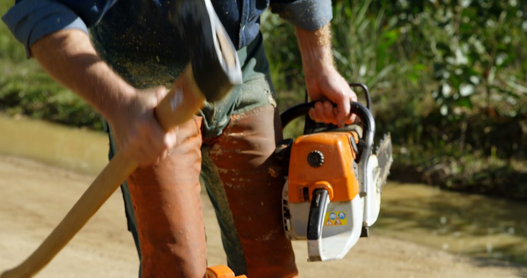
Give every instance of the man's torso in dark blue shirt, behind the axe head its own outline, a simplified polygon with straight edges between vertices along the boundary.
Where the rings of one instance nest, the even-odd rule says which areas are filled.
[[[93,27],[106,48],[131,55],[187,60],[184,42],[169,20],[168,0],[117,1]],[[237,49],[259,32],[259,17],[269,0],[211,0]]]

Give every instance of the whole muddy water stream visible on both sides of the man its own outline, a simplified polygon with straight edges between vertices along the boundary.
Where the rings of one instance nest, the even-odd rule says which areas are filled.
[[[105,134],[0,116],[0,153],[98,174],[108,163]],[[371,236],[527,264],[527,203],[389,182]]]

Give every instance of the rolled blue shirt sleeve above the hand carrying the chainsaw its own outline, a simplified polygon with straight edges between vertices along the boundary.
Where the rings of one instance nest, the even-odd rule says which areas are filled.
[[[271,11],[307,31],[320,29],[333,18],[331,0],[271,0]]]

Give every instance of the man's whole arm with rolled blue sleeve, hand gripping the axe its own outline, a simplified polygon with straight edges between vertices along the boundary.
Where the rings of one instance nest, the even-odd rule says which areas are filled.
[[[31,1],[22,2],[27,5]],[[82,24],[79,27],[79,17],[70,16],[68,7],[57,5],[60,9],[52,9],[48,17],[57,16],[56,11],[65,11],[65,14],[58,17],[62,23],[52,20],[51,25],[44,19],[38,22],[35,16],[41,14],[30,11],[31,7],[26,11],[19,7],[9,11],[4,20],[26,45],[28,56],[35,57],[55,80],[71,88],[106,117],[124,156],[145,166],[167,155],[175,144],[175,133],[164,132],[153,112],[158,99],[166,94],[165,89],[139,91],[122,80],[96,54]],[[69,20],[64,22],[66,18]],[[74,23],[73,27],[70,22]],[[35,37],[38,33],[40,36]]]

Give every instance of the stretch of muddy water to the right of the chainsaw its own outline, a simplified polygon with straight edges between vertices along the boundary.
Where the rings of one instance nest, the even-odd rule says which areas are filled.
[[[527,203],[388,183],[372,233],[527,264]]]

